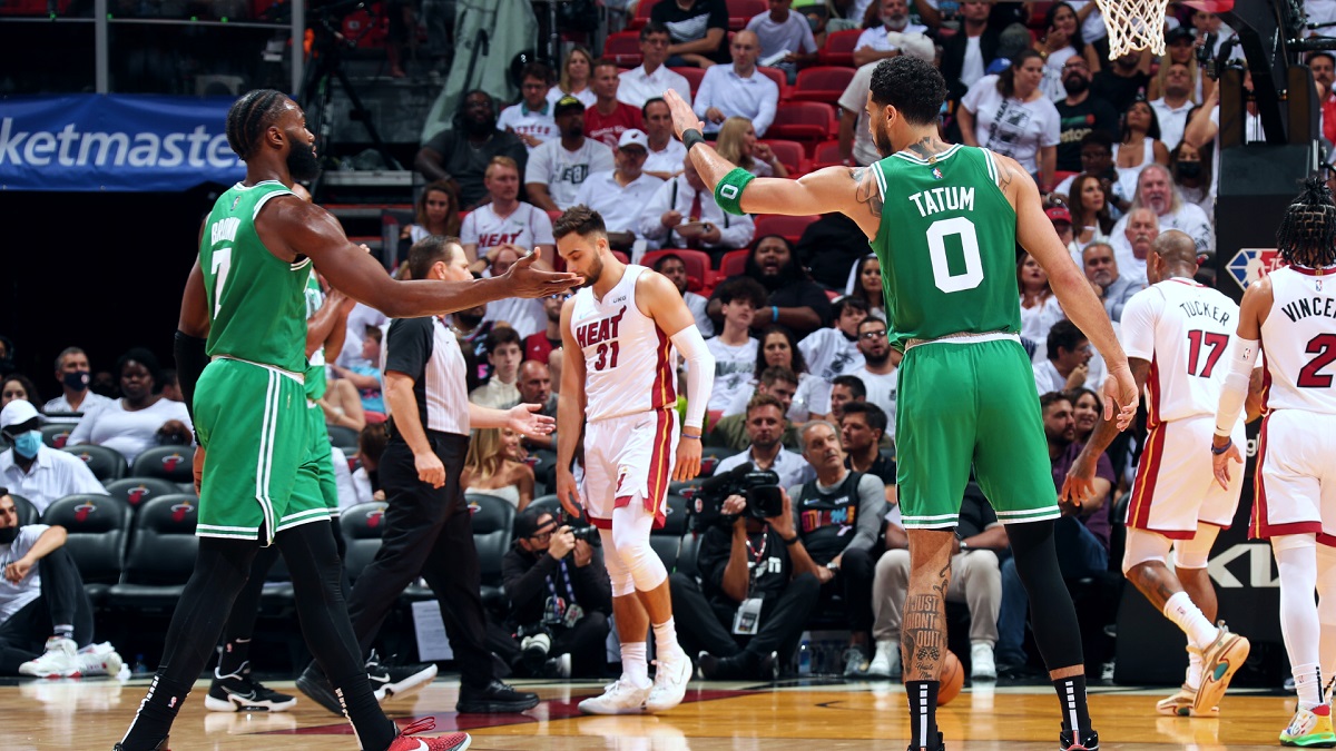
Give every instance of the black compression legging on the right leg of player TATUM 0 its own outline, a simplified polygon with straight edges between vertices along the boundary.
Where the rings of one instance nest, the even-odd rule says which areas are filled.
[[[1050,671],[1085,661],[1077,611],[1058,568],[1058,553],[1053,543],[1054,524],[1055,521],[1049,520],[1006,527],[1011,555],[1015,556],[1015,572],[1030,596],[1034,643]]]

